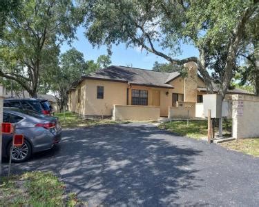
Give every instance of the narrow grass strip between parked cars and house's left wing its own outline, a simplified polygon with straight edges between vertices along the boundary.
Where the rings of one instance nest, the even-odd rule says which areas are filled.
[[[86,126],[96,126],[100,124],[118,124],[119,121],[111,119],[83,119],[75,112],[55,113],[55,117],[59,117],[59,123],[62,128],[78,128]]]

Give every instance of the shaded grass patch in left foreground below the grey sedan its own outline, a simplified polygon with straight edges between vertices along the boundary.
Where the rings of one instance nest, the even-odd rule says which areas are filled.
[[[1,179],[1,177],[0,177]],[[0,206],[77,206],[74,193],[51,172],[26,172],[0,182]]]

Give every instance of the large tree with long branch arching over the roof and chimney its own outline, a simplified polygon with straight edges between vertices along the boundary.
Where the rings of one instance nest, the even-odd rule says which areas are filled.
[[[81,2],[81,10],[87,18],[86,37],[94,46],[111,47],[124,42],[173,64],[195,61],[208,92],[213,92],[209,66],[218,56],[221,68],[214,72],[223,99],[233,77],[244,30],[258,17],[258,1],[90,0]],[[175,59],[181,52],[181,43],[193,44],[200,57]]]

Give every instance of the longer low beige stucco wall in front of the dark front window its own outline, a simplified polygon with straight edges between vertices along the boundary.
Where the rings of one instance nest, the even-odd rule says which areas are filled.
[[[156,120],[160,119],[159,106],[114,105],[113,120]]]

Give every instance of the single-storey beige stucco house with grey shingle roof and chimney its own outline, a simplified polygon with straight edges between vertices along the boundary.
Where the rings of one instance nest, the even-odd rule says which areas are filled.
[[[155,72],[124,66],[98,70],[82,76],[77,85],[70,88],[68,110],[84,116],[111,116],[114,105],[154,106],[160,108],[161,117],[167,117],[169,108],[178,106],[178,102],[202,102],[202,95],[206,93],[196,64],[190,62],[186,67],[189,68],[186,78],[182,78],[179,72]],[[248,93],[240,89],[229,92]]]

